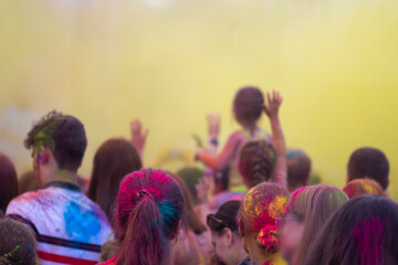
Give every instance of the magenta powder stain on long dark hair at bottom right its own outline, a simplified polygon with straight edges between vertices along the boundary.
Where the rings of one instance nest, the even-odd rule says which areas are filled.
[[[358,241],[360,264],[383,264],[384,257],[380,251],[384,231],[383,226],[379,218],[368,218],[360,221],[355,229],[352,229],[352,234]]]

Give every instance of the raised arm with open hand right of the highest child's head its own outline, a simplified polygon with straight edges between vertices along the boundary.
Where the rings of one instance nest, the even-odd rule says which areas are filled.
[[[276,150],[274,181],[285,184],[287,174],[286,144],[279,119],[279,109],[282,104],[282,96],[279,92],[273,91],[272,95],[266,93],[266,103],[263,105],[263,110],[270,119],[272,144]]]

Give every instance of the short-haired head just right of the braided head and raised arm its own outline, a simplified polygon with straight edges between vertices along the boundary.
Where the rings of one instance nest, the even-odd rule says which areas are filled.
[[[287,150],[287,190],[294,192],[308,183],[311,171],[310,157],[300,149]]]

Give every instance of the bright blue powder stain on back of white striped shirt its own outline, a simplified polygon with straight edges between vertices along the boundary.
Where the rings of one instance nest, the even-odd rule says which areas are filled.
[[[90,242],[96,237],[101,225],[98,216],[84,210],[76,202],[71,202],[64,211],[65,229],[71,240],[78,242]]]

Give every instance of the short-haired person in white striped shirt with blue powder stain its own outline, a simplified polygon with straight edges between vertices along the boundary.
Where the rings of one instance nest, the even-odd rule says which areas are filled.
[[[112,236],[105,213],[77,186],[86,148],[78,119],[52,112],[29,132],[39,187],[12,200],[7,214],[25,223],[38,240],[41,264],[96,264]]]

